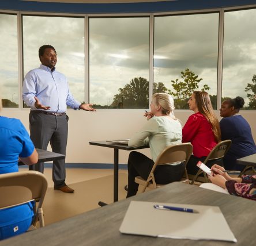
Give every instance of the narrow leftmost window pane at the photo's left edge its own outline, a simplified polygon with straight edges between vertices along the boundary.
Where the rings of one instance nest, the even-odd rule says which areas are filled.
[[[0,98],[3,107],[18,107],[17,16],[0,14]]]

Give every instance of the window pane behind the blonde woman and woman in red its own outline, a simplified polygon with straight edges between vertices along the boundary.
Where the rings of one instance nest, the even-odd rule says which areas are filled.
[[[219,13],[155,17],[154,92],[168,89],[176,109],[204,85],[216,108],[218,31]]]

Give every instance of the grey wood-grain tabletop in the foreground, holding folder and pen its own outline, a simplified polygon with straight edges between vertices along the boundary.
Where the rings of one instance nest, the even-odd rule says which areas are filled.
[[[86,194],[85,194],[86,195]],[[122,235],[119,227],[130,201],[219,206],[238,243]],[[255,201],[195,185],[171,183],[0,242],[2,245],[254,245]],[[45,214],[44,216],[47,216]],[[175,221],[173,221],[175,223]],[[210,223],[210,221],[209,221]],[[153,226],[153,222],[152,222]]]

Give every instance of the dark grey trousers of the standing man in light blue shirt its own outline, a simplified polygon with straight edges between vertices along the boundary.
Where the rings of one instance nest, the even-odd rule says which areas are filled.
[[[50,142],[53,152],[66,155],[67,146],[67,121],[66,114],[54,116],[49,114],[29,113],[29,129],[31,140],[36,148],[47,149]],[[44,163],[37,163],[29,166],[29,170],[44,172]],[[65,159],[54,160],[52,165],[52,180],[54,187],[65,186],[66,170]]]

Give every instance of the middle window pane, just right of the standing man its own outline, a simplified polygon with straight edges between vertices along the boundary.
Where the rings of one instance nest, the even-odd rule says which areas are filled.
[[[149,18],[89,19],[89,101],[148,108]]]

